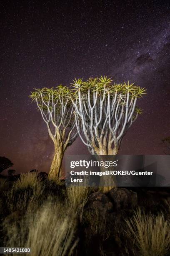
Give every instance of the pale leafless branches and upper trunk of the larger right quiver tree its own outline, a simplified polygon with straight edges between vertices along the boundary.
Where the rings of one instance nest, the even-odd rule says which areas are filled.
[[[103,92],[90,92],[89,89],[84,95],[79,89],[77,99],[72,100],[77,131],[90,154],[117,154],[123,136],[136,120],[137,98],[132,97],[129,102],[128,91],[122,100],[119,96],[115,92],[110,97],[106,89]]]

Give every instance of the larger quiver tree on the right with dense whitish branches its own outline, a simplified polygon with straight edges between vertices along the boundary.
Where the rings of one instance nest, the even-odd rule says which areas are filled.
[[[145,88],[134,84],[113,84],[107,77],[73,82],[72,103],[77,131],[90,154],[117,154],[123,136],[142,114],[137,99]],[[81,132],[82,131],[82,132]]]

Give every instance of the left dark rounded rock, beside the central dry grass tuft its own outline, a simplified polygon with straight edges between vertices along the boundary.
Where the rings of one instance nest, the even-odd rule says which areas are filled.
[[[109,198],[100,191],[97,191],[90,195],[89,207],[99,210],[102,216],[113,210],[112,202],[110,202]]]

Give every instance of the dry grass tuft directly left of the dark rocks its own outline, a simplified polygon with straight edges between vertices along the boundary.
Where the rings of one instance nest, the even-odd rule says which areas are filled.
[[[84,206],[87,203],[90,193],[89,187],[71,186],[67,187],[67,197],[70,207],[75,212],[75,215],[82,221]]]

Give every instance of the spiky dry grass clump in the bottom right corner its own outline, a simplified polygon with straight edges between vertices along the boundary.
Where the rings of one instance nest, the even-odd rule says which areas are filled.
[[[134,240],[141,256],[164,256],[170,250],[170,224],[163,214],[144,215],[137,210],[131,220],[126,221],[126,233]]]

